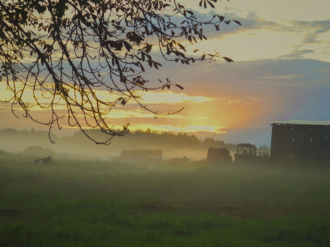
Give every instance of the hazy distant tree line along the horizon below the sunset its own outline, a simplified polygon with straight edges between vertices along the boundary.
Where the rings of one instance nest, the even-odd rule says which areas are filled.
[[[90,136],[97,139],[102,138],[102,132],[98,129],[88,129],[85,130]],[[114,130],[121,131],[121,130]],[[38,143],[42,146],[52,147],[53,145],[49,143],[47,138],[47,131],[43,130],[16,130],[12,128],[7,128],[0,130],[0,138],[16,138],[17,140],[30,140],[31,145],[37,145]],[[55,134],[51,134],[52,138],[56,143],[66,143],[74,146],[82,147],[94,147],[94,143],[85,138],[85,135],[81,131],[76,131],[73,136],[63,136],[61,138],[57,137]],[[128,131],[127,134],[121,136],[120,138],[115,138],[112,140],[109,146],[95,145],[96,149],[109,150],[116,149],[120,147],[122,149],[144,149],[152,146],[157,147],[177,147],[177,148],[227,148],[228,150],[234,150],[237,148],[235,143],[225,143],[222,140],[217,140],[212,137],[206,137],[203,141],[199,139],[194,134],[187,134],[181,132],[170,132],[170,131],[157,131],[147,128],[146,130],[137,129],[135,131]]]

